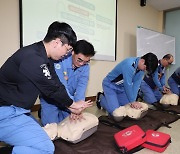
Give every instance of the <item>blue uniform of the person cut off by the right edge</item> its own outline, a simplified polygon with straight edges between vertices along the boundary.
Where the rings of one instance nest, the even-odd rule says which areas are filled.
[[[174,94],[180,95],[180,67],[169,77],[168,85]]]

